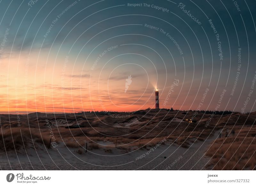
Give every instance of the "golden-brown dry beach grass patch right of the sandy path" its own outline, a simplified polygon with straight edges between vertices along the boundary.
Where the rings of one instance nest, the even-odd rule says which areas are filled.
[[[208,165],[213,170],[255,170],[256,128],[235,127],[238,134],[216,140],[206,152],[212,157]]]

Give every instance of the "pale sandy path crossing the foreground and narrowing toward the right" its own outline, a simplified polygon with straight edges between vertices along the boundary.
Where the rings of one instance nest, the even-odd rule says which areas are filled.
[[[219,131],[204,142],[192,144],[189,149],[177,145],[170,146],[170,142],[167,141],[149,154],[146,154],[148,151],[146,149],[125,154],[124,151],[114,148],[113,153],[99,149],[80,155],[74,152],[75,149],[70,149],[70,152],[67,148],[60,146],[58,149],[49,151],[51,158],[45,152],[38,153],[39,159],[35,150],[30,150],[28,156],[19,155],[21,165],[17,157],[9,158],[11,162],[9,164],[6,155],[2,155],[0,156],[0,166],[2,170],[164,170],[168,166],[169,170],[200,170],[204,169],[204,165],[209,160],[204,157],[204,153],[210,143],[218,138],[218,134]],[[148,149],[150,148],[152,147]],[[136,160],[141,155],[144,157]],[[172,162],[178,157],[182,158],[172,165]]]

